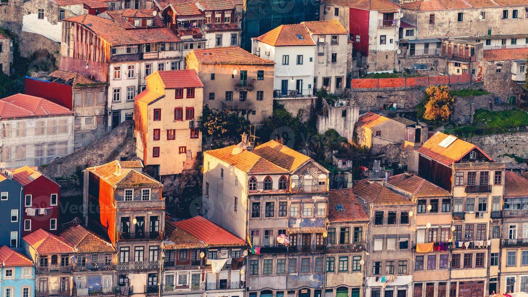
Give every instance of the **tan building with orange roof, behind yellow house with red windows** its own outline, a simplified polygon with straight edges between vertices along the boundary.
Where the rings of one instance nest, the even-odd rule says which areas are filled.
[[[275,62],[239,47],[192,50],[187,69],[198,73],[204,88],[204,104],[244,116],[253,124],[273,113]]]

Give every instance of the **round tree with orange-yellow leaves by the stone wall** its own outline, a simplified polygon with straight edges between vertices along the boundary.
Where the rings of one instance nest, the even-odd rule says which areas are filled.
[[[455,106],[455,98],[449,94],[448,86],[430,86],[422,102],[416,107],[418,117],[424,122],[440,126],[445,124]]]

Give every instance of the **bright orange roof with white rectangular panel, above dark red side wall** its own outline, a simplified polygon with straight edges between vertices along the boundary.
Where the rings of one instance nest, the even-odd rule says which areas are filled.
[[[442,141],[450,136],[447,147],[441,146]],[[455,140],[453,140],[453,137]],[[416,150],[418,153],[429,157],[432,160],[435,160],[439,163],[442,163],[446,166],[451,166],[452,163],[455,163],[462,159],[467,153],[473,149],[479,150],[483,153],[489,160],[493,159],[488,156],[484,151],[472,143],[466,142],[452,135],[447,135],[441,132],[435,133],[431,138],[429,138],[422,146]]]

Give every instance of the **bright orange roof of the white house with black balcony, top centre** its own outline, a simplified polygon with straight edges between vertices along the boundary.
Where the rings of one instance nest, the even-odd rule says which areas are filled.
[[[303,24],[280,25],[256,38],[274,47],[284,45],[315,45]]]

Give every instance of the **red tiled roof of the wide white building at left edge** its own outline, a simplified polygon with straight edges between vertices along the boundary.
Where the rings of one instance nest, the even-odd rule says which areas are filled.
[[[0,99],[0,118],[73,115],[68,108],[41,97],[15,94]]]

